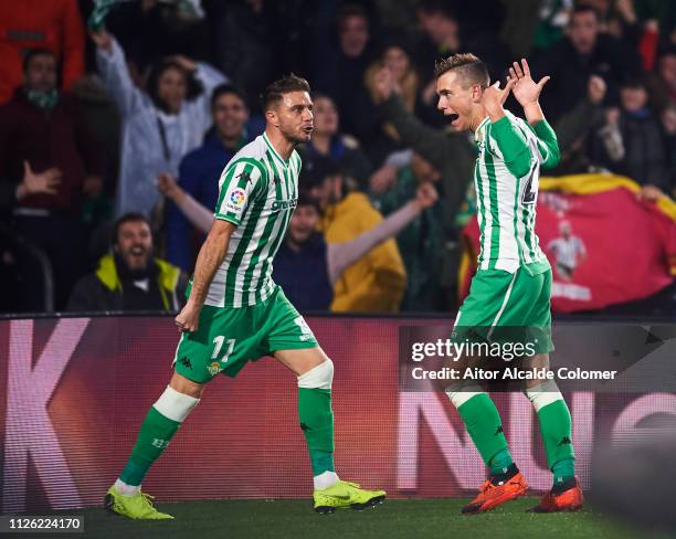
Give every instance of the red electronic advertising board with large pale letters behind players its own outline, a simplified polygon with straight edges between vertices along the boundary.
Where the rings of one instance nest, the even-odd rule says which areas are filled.
[[[429,320],[308,318],[336,364],[336,464],[340,476],[391,496],[467,496],[485,469],[444,394],[400,392],[398,328]],[[451,323],[450,323],[451,324]],[[0,321],[1,512],[99,505],[138,427],[171,373],[170,318]],[[160,500],[308,497],[311,474],[298,427],[296,381],[273,360],[220,377],[150,471]],[[592,448],[654,430],[676,415],[676,395],[566,395],[578,474]],[[496,394],[515,459],[534,489],[551,477],[529,401]]]

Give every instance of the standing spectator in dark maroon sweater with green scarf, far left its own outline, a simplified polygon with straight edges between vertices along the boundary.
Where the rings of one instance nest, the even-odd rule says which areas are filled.
[[[103,191],[105,162],[75,99],[56,89],[56,59],[47,50],[29,52],[24,84],[0,109],[0,177],[15,181],[23,177],[25,162],[39,173],[53,168],[61,171],[61,182],[53,186],[55,193],[33,192],[17,201],[13,226],[45,252],[54,272],[55,305],[63,308],[84,271],[83,202]],[[20,272],[25,279],[23,309],[42,309],[40,268],[22,261]]]

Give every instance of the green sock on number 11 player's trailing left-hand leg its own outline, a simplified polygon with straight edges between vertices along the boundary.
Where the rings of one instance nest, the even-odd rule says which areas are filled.
[[[127,485],[140,485],[148,469],[167,448],[179,426],[181,426],[179,422],[163,416],[155,406],[151,408],[141,424],[136,445],[119,478]]]

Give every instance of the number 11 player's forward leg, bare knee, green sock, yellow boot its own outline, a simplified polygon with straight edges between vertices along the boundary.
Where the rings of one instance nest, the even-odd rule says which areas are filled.
[[[366,490],[340,480],[334,465],[334,363],[319,348],[311,330],[282,290],[264,313],[266,348],[298,381],[298,421],[313,466],[314,505],[317,512],[337,508],[363,509],[380,504],[383,490]]]

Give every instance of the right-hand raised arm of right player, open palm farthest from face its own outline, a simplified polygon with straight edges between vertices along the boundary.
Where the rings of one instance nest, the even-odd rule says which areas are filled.
[[[526,120],[532,128],[536,137],[538,137],[538,150],[540,151],[540,162],[545,168],[553,168],[561,160],[561,151],[559,141],[554,130],[551,128],[545,113],[540,106],[540,93],[549,81],[549,76],[543,76],[539,83],[536,83],[530,76],[530,67],[526,59],[521,60],[521,64],[514,62],[509,67],[509,80],[515,81],[514,96],[524,107]]]

